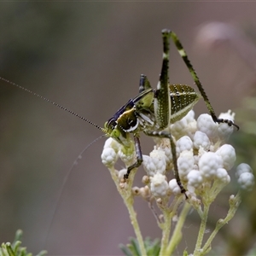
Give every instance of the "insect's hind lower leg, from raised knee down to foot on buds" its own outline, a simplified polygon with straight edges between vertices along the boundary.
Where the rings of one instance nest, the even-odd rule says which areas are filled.
[[[210,103],[210,101],[207,97],[207,94],[206,94],[205,90],[202,87],[201,81],[198,78],[197,74],[195,73],[194,67],[192,66],[191,62],[189,61],[188,55],[186,54],[185,50],[183,49],[183,45],[181,44],[181,42],[177,38],[177,35],[174,32],[170,32],[170,33],[171,33],[172,41],[176,45],[179,55],[181,55],[181,57],[183,58],[183,61],[185,62],[186,66],[189,69],[189,73],[192,75],[192,78],[194,79],[198,90],[201,92],[201,96],[203,97],[204,101],[206,102],[207,108],[209,110],[209,113],[212,116],[213,121],[216,122],[216,123],[226,123],[230,126],[234,125],[236,127],[236,129],[239,130],[239,126],[234,124],[233,121],[231,121],[229,119],[218,119],[218,117],[217,117],[216,113],[214,112],[214,110],[212,108],[212,105],[211,105],[211,103]]]

